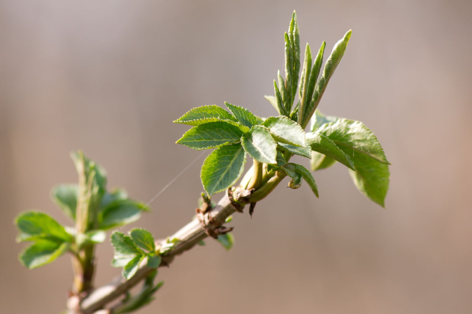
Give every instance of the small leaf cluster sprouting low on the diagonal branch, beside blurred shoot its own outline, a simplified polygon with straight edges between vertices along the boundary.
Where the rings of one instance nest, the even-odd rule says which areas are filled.
[[[123,267],[122,275],[126,279],[133,277],[143,262],[152,268],[160,265],[161,258],[156,252],[154,238],[145,229],[135,228],[129,232],[129,236],[115,231],[111,235],[111,244],[115,249],[111,265]]]

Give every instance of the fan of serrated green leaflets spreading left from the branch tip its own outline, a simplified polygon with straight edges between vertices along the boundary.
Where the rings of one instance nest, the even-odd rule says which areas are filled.
[[[277,164],[277,152],[306,147],[302,127],[286,116],[265,120],[243,107],[225,103],[231,113],[216,105],[197,107],[176,123],[193,125],[179,140],[190,148],[216,148],[203,162],[203,188],[211,196],[236,183],[244,170],[246,154],[254,160]]]

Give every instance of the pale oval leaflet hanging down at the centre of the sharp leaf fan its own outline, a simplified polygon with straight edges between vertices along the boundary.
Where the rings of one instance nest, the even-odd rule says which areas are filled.
[[[255,160],[265,163],[277,163],[277,142],[270,135],[269,129],[257,125],[253,126],[241,138],[244,150]]]

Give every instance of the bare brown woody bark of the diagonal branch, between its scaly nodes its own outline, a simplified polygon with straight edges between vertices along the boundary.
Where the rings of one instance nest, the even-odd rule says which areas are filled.
[[[209,224],[210,221],[212,221],[217,222],[219,225],[223,225],[226,218],[236,212],[235,206],[240,209],[241,206],[244,205],[234,203],[230,200],[229,194],[226,193],[211,211],[204,214],[205,224]],[[162,258],[161,266],[170,265],[177,255],[182,254],[186,250],[192,249],[198,242],[202,241],[206,237],[208,237],[208,234],[205,232],[203,225],[200,223],[198,218],[194,218],[191,222],[170,236],[171,239],[177,238],[179,241],[172,250]],[[165,241],[166,240],[162,240],[157,244],[164,244]],[[102,309],[106,304],[123,295],[126,291],[141,282],[152,272],[152,270],[153,268],[143,266],[129,280],[120,277],[107,285],[97,288],[82,300],[81,313],[92,314],[95,311]]]

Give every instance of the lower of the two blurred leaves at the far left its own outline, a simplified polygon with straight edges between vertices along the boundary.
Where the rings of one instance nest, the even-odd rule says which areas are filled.
[[[39,240],[23,250],[19,255],[19,260],[28,269],[33,269],[51,263],[68,249],[67,242]]]

